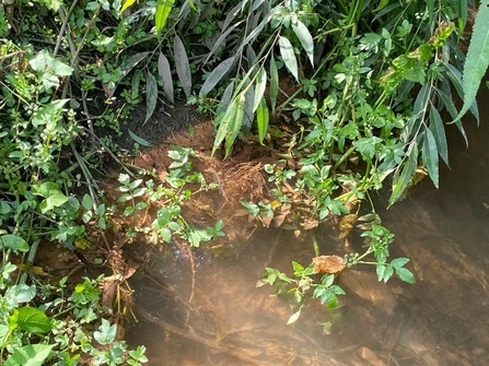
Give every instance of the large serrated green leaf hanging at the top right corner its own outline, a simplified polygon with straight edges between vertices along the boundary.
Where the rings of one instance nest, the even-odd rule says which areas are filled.
[[[470,108],[480,82],[489,66],[489,0],[480,0],[470,45],[464,64],[464,105],[455,120],[459,120]]]

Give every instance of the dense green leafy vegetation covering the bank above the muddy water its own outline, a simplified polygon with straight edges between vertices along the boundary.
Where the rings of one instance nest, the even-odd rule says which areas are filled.
[[[252,216],[288,208],[288,220],[306,229],[342,216],[342,235],[362,222],[364,253],[329,258],[335,270],[331,263],[294,263],[296,280],[267,269],[261,283],[288,292],[283,284],[293,284],[299,304],[312,293],[334,307],[342,294],[334,285],[336,273],[358,263],[374,264],[380,281],[396,273],[412,282],[407,259],[387,261],[394,235],[382,226],[370,192],[389,184],[394,204],[417,175],[438,187],[440,160],[449,164],[447,118],[464,138],[461,116],[470,110],[478,119],[475,94],[489,62],[488,1],[480,2],[466,57],[464,32],[473,11],[466,0],[4,1],[1,361],[75,365],[84,354],[94,364],[145,362],[143,347],[131,351],[115,341],[116,326],[106,320],[110,309],[98,305],[97,279],[67,288],[67,278],[46,284],[30,268],[40,240],[77,250],[89,231],[110,226],[115,209],[106,204],[93,168],[117,146],[110,134],[94,131],[120,133],[140,106],[145,123],[162,99],[186,99],[212,114],[213,151],[223,145],[225,156],[238,138],[256,137],[275,149],[277,122],[288,119],[292,132],[280,151],[283,161],[265,166],[273,197],[243,202]],[[293,93],[282,97],[284,80]],[[464,101],[461,113],[457,98]],[[131,138],[136,149],[147,144]],[[155,243],[178,236],[198,246],[225,232],[222,222],[197,231],[181,215],[181,202],[191,199],[182,187],[212,188],[190,172],[191,154],[172,152],[165,185],[143,185],[130,170],[119,177],[124,215],[144,209],[136,200],[143,194],[170,202],[149,228]],[[371,208],[358,217],[364,201]],[[365,262],[371,253],[375,260]],[[324,273],[319,283],[312,280],[316,272]]]

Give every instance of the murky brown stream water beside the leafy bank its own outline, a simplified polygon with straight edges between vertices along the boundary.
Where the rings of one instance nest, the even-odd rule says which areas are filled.
[[[377,198],[396,234],[392,257],[410,258],[416,284],[383,284],[373,268],[354,269],[339,279],[347,296],[337,310],[307,302],[287,326],[288,303],[255,283],[266,265],[291,274],[292,260],[308,264],[307,238],[258,231],[228,257],[196,251],[195,272],[178,248],[154,250],[149,260],[159,284],[135,284],[140,322],[128,329],[129,342],[148,347],[150,365],[166,366],[489,365],[487,125],[487,115],[479,129],[466,121],[468,150],[449,129],[451,169],[441,168],[440,189],[423,181],[389,210]],[[345,252],[331,229],[316,236],[322,253]],[[353,233],[359,250],[357,240]]]

